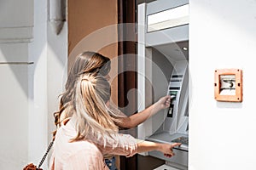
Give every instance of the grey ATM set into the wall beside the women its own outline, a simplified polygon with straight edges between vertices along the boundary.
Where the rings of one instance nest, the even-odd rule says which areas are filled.
[[[159,151],[143,153],[164,160],[155,169],[188,169],[189,153],[189,1],[141,3],[138,14],[138,111],[160,97],[172,96],[170,107],[138,126],[138,139],[182,143],[167,158]]]

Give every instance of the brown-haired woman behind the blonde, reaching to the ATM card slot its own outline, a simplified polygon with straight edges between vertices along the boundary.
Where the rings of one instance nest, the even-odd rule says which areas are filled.
[[[66,91],[61,95],[60,111],[55,112],[55,125],[57,127],[61,126],[61,122],[65,120],[65,118],[73,115],[74,86],[79,76],[84,73],[97,73],[103,77],[108,77],[108,72],[111,69],[110,65],[110,59],[95,52],[87,51],[77,56],[67,77],[67,83],[65,86]],[[113,113],[117,113],[119,116],[118,121],[115,122],[116,125],[119,127],[131,128],[137,127],[138,124],[144,122],[150,116],[153,116],[158,111],[169,107],[170,100],[170,96],[162,97],[158,102],[149,106],[146,110],[131,116],[125,116],[125,114],[117,110],[111,104],[108,106]],[[108,167],[110,169],[116,169],[115,157],[113,155],[104,156]]]

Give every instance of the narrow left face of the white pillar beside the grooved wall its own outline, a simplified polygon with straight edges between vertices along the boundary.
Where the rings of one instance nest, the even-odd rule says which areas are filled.
[[[28,160],[38,165],[48,142],[47,129],[47,3],[34,2],[33,41],[29,44],[30,98],[28,115]]]

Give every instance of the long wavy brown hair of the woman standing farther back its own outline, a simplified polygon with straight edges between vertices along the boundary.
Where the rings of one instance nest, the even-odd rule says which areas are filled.
[[[59,111],[54,113],[56,127],[60,127],[61,121],[64,118],[73,116],[73,95],[75,83],[78,81],[78,78],[84,73],[97,73],[106,76],[108,75],[110,68],[110,59],[102,54],[86,51],[77,56],[69,71],[65,92],[61,94]],[[55,133],[56,131],[53,132],[54,139]]]

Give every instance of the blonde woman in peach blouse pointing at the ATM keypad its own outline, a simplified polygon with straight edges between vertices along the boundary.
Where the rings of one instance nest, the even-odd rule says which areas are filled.
[[[80,75],[73,91],[74,102],[67,105],[70,117],[61,122],[55,134],[51,170],[108,169],[104,154],[133,156],[159,150],[165,156],[174,156],[172,148],[180,144],[137,141],[131,135],[118,133],[119,115],[107,106],[110,95],[106,78],[90,73]]]

